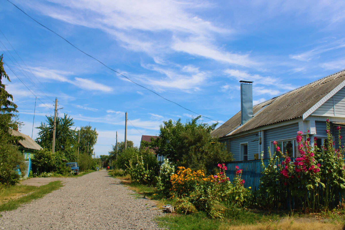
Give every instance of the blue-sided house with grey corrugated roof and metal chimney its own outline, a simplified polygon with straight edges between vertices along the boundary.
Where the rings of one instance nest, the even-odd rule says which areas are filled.
[[[297,131],[307,134],[311,144],[317,137],[320,147],[327,141],[326,119],[338,143],[336,127],[343,127],[345,140],[345,70],[253,106],[252,82],[240,81],[241,111],[211,134],[226,143],[235,161],[269,157],[275,151],[273,141],[282,152],[298,157]]]

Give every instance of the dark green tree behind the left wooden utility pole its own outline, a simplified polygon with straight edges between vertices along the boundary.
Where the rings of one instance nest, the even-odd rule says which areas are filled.
[[[36,127],[40,129],[36,141],[42,148],[52,149],[54,118],[52,116],[46,118],[47,124],[41,122],[41,125]],[[68,161],[75,161],[77,157],[76,130],[71,128],[73,124],[73,118],[67,117],[66,113],[63,118],[56,118],[55,151],[65,155]]]

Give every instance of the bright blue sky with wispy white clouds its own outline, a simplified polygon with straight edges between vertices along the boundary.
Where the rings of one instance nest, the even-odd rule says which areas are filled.
[[[34,127],[53,115],[57,97],[59,116],[96,128],[96,156],[116,131],[124,141],[126,111],[137,146],[162,121],[197,116],[0,2],[0,53],[15,73],[5,65],[23,133],[31,136],[36,96]],[[239,80],[254,81],[256,104],[345,68],[344,1],[12,2],[110,68],[220,123],[240,110]]]

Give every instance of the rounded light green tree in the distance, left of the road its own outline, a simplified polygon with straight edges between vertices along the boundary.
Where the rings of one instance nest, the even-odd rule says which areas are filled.
[[[79,153],[93,154],[93,146],[97,142],[98,133],[96,128],[92,129],[91,126],[81,127],[79,130],[80,141],[79,141]],[[76,135],[76,141],[78,141],[79,134]]]

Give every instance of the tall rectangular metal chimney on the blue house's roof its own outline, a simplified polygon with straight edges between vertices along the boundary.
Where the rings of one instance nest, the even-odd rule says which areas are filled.
[[[253,81],[241,82],[241,125],[253,117]]]

